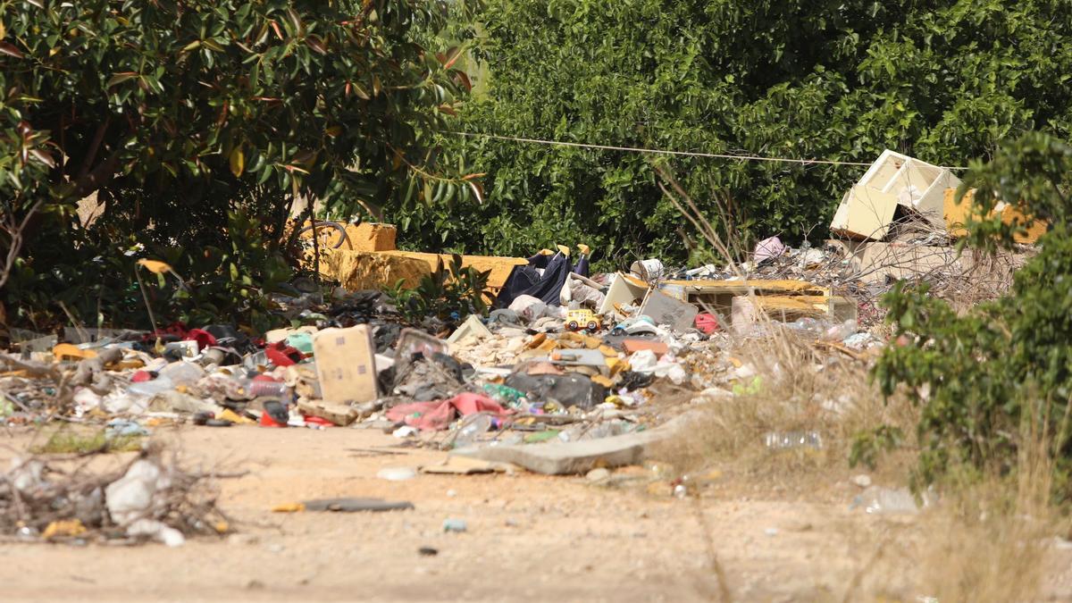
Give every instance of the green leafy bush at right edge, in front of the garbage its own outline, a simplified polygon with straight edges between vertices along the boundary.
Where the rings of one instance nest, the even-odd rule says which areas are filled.
[[[885,298],[896,335],[911,342],[888,348],[875,377],[885,395],[905,386],[923,409],[922,481],[951,467],[1013,468],[1023,446],[1042,441],[1054,460],[1055,494],[1072,498],[1070,173],[1072,147],[1039,133],[973,163],[966,186],[978,187],[983,215],[1000,201],[1022,201],[1029,222],[1051,223],[1007,296],[964,315],[926,289],[898,288]],[[973,240],[992,250],[1011,246],[1021,227],[999,219],[969,224]]]

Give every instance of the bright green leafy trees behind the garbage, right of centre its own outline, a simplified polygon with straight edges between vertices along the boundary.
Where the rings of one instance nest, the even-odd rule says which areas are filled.
[[[1072,128],[1072,19],[1056,0],[488,0],[480,32],[487,93],[461,114],[473,132],[963,165],[1025,130]],[[488,203],[406,209],[402,240],[510,254],[581,241],[604,266],[685,256],[643,156],[446,139],[488,173]],[[863,170],[670,163],[738,239],[823,236]]]

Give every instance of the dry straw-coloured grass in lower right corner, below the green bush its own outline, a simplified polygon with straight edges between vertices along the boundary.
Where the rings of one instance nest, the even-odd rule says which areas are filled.
[[[1070,525],[1051,498],[1052,444],[1044,432],[1022,425],[1012,471],[997,465],[951,471],[933,509],[895,542],[873,547],[887,550],[882,562],[862,569],[863,591],[942,603],[1045,600],[1051,543]]]

